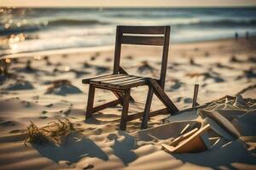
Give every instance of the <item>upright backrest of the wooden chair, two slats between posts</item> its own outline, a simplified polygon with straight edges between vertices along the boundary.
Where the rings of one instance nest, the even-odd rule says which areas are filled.
[[[119,73],[121,44],[163,46],[160,86],[165,87],[170,26],[117,26],[113,74]],[[150,36],[151,35],[151,36]]]

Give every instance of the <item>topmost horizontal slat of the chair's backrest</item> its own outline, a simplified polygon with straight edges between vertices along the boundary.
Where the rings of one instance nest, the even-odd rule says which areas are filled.
[[[164,34],[165,26],[120,26],[122,33],[127,34]]]

